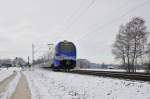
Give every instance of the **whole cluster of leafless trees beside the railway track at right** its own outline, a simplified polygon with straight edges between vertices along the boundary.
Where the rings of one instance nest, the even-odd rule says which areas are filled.
[[[134,17],[125,25],[120,26],[112,53],[128,72],[136,72],[137,65],[147,66],[149,72],[150,44],[147,44],[148,34],[145,20],[140,17]]]

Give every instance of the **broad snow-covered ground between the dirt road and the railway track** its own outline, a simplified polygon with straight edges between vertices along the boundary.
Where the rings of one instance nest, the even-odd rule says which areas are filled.
[[[32,99],[150,99],[150,83],[42,69],[25,71]]]

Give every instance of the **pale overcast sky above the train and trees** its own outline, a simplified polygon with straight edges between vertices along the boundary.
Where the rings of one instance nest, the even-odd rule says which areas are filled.
[[[47,44],[68,40],[78,58],[115,63],[119,26],[139,16],[150,30],[149,10],[150,0],[0,0],[0,58],[27,59],[32,43],[38,58]]]

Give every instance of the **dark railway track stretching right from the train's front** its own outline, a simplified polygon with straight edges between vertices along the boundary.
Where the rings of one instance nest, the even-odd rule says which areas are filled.
[[[150,81],[150,74],[145,73],[128,73],[128,72],[115,72],[115,71],[89,71],[89,70],[73,70],[69,73],[94,75],[103,77],[112,77],[119,79],[130,79],[139,81]]]

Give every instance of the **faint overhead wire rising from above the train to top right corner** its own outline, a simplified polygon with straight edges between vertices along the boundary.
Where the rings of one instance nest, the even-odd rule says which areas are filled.
[[[82,36],[81,38],[77,39],[77,41],[80,40],[80,39],[82,39],[82,38],[84,38],[84,37],[87,36],[88,34],[91,34],[91,33],[93,34],[93,33],[96,33],[96,31],[99,31],[100,29],[106,28],[107,26],[109,26],[109,25],[113,24],[114,22],[120,20],[122,17],[125,17],[125,16],[128,15],[129,13],[134,12],[136,9],[138,9],[138,8],[140,8],[140,7],[143,7],[143,6],[144,6],[145,4],[147,4],[149,1],[150,1],[150,0],[146,0],[145,2],[143,2],[143,3],[141,3],[141,4],[137,5],[137,6],[135,6],[134,8],[132,8],[132,9],[130,9],[130,10],[128,10],[128,11],[127,11],[126,13],[124,13],[123,15],[121,15],[121,16],[119,16],[119,17],[113,19],[113,20],[111,20],[110,22],[105,23],[104,25],[101,25],[100,27],[97,27],[94,31],[91,31],[91,32],[85,34],[84,36]]]

